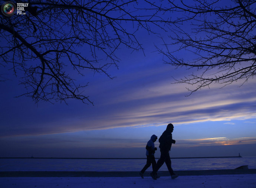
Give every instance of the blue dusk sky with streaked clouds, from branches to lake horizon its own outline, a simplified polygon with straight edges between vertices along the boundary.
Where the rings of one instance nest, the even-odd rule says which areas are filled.
[[[1,67],[10,80],[0,82],[0,157],[145,157],[151,135],[159,138],[168,123],[176,140],[171,157],[256,156],[256,79],[186,96],[188,86],[174,79],[197,70],[164,64],[155,49],[163,41],[146,31],[137,35],[145,55],[120,47],[119,69],[108,69],[116,78],[90,71],[77,77],[89,82],[84,90],[94,106],[15,98],[24,88]],[[162,35],[168,42],[168,32]]]

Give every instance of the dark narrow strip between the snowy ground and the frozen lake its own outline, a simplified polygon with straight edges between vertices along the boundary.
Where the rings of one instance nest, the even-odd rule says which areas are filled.
[[[0,172],[0,177],[138,177],[139,172],[95,172],[95,171],[6,171]],[[184,170],[175,171],[180,176],[188,175],[225,175],[225,174],[256,174],[256,169],[234,170]],[[158,171],[160,176],[170,176],[168,171]],[[144,177],[150,176],[150,171]]]

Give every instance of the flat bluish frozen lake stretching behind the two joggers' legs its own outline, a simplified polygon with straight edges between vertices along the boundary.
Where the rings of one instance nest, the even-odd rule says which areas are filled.
[[[171,161],[173,170],[221,170],[242,165],[256,168],[256,157],[174,158]],[[145,164],[146,159],[0,158],[0,171],[140,171]],[[151,170],[149,167],[147,171]],[[165,164],[160,171],[167,171]]]

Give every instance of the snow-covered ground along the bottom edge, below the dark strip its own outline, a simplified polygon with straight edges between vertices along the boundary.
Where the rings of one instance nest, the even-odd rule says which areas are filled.
[[[256,174],[171,177],[0,177],[0,188],[256,188]]]

